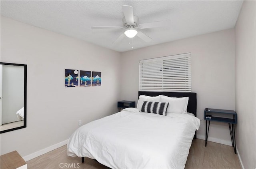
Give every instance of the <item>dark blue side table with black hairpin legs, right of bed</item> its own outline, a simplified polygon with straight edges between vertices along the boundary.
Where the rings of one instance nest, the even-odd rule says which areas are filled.
[[[207,145],[209,127],[211,121],[218,121],[222,123],[228,123],[232,146],[234,147],[234,151],[236,154],[236,133],[235,133],[235,124],[237,123],[237,114],[233,110],[222,110],[222,109],[211,109],[205,108],[204,109],[204,119],[206,121],[205,126],[205,147]],[[208,130],[207,130],[207,121]]]

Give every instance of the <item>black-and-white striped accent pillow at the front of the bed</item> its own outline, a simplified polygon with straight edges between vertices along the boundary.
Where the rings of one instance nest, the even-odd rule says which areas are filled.
[[[140,112],[145,113],[156,113],[166,116],[166,111],[169,103],[166,102],[156,102],[156,101],[144,101]]]

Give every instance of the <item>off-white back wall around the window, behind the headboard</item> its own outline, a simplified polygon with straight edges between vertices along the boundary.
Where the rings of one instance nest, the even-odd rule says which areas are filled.
[[[188,52],[192,92],[197,93],[197,117],[203,119],[205,107],[234,110],[234,29],[121,53],[120,99],[138,101],[139,60]],[[205,138],[204,120],[198,138]],[[228,124],[211,122],[208,140],[231,145]]]

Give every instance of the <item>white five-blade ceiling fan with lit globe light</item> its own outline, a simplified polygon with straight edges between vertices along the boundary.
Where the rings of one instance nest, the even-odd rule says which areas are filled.
[[[152,39],[146,34],[139,31],[139,29],[157,28],[168,26],[169,20],[162,20],[157,22],[149,22],[144,24],[138,24],[138,16],[133,15],[133,7],[128,5],[122,6],[124,18],[122,19],[124,26],[92,26],[92,29],[124,29],[125,31],[113,42],[116,44],[120,42],[125,36],[128,38],[134,38],[138,36],[145,42],[150,42]]]

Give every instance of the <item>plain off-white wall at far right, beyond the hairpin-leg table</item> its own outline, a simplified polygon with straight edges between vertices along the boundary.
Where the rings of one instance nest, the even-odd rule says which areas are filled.
[[[256,168],[256,3],[244,1],[235,27],[237,149],[244,168]]]

